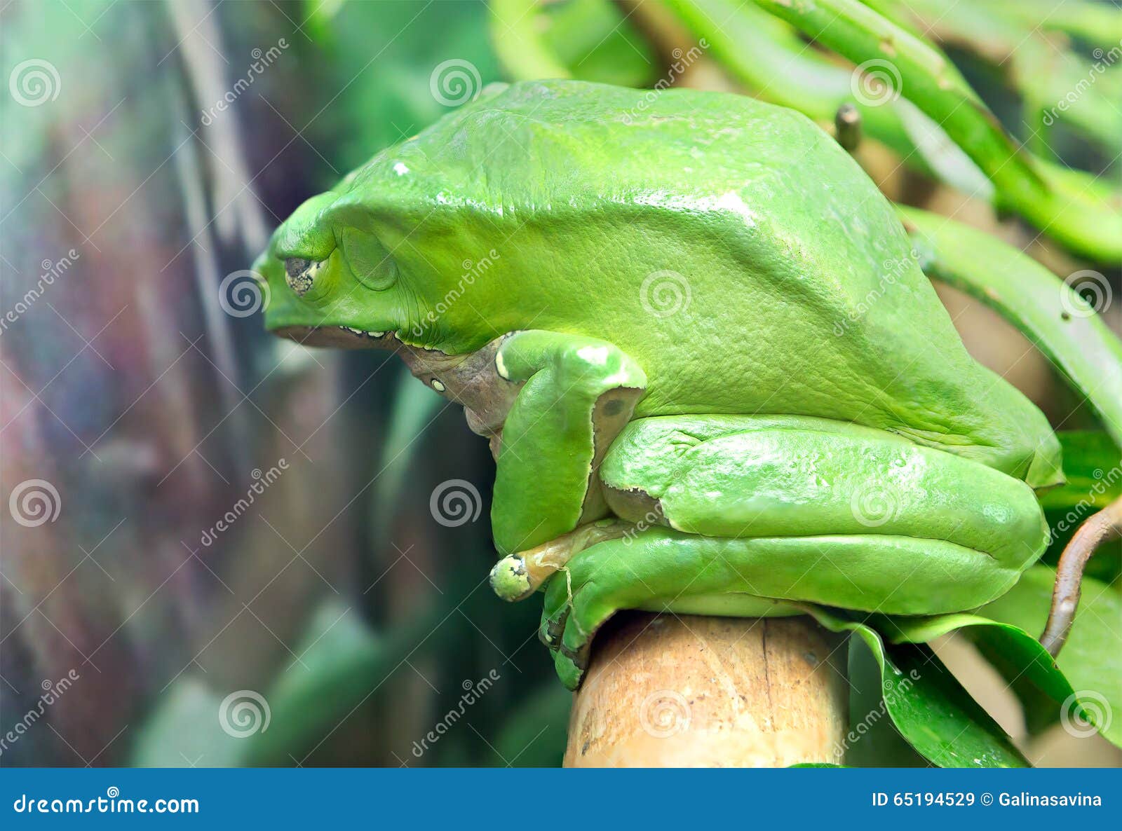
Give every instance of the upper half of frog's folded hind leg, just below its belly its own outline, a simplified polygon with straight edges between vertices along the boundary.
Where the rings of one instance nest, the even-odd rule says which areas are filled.
[[[617,516],[730,539],[947,542],[1017,573],[1043,551],[1032,489],[978,462],[826,418],[725,416],[708,434],[697,421],[624,430],[600,469]]]

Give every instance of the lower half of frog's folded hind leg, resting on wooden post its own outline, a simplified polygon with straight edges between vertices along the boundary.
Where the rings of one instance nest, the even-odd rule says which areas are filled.
[[[620,609],[714,613],[703,604],[733,594],[723,613],[790,613],[799,601],[938,613],[980,606],[1017,575],[946,541],[874,534],[727,539],[655,527],[573,556],[546,583],[539,635],[555,653],[562,681],[576,689],[594,635]]]

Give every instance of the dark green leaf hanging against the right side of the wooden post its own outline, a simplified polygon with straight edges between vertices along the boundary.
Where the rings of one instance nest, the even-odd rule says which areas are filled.
[[[881,668],[883,707],[900,735],[939,767],[1028,767],[997,723],[935,653],[919,644],[885,644],[871,627],[808,607],[833,631],[852,631]]]

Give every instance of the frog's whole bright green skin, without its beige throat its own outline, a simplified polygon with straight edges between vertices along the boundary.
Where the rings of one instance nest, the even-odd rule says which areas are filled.
[[[321,265],[286,281],[286,260]],[[499,550],[638,524],[549,584],[570,685],[618,608],[950,611],[1042,551],[1046,419],[969,358],[890,204],[790,110],[489,87],[305,203],[256,268],[288,336],[388,331],[449,356],[503,339]],[[892,516],[870,523],[882,496]]]

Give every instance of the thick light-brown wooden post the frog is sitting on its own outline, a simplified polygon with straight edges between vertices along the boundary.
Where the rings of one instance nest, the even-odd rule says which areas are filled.
[[[809,617],[620,613],[597,635],[573,696],[564,764],[837,764],[845,666],[843,638]]]

